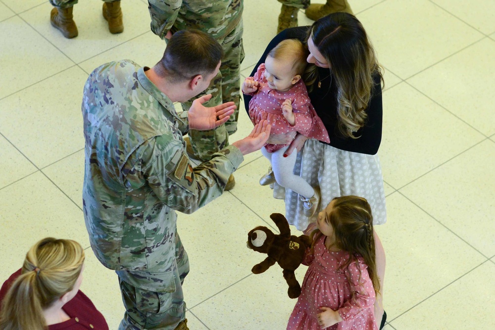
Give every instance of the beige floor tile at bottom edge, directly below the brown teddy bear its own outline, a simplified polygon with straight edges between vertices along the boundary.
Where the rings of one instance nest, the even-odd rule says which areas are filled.
[[[303,268],[302,268],[303,267]],[[296,271],[302,283],[307,267]],[[191,311],[209,329],[285,329],[297,299],[287,296],[278,265],[229,286]]]

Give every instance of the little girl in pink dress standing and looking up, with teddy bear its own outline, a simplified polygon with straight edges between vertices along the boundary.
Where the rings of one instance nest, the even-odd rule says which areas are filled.
[[[380,290],[371,207],[357,196],[334,198],[318,214],[304,276],[287,330],[378,330]]]

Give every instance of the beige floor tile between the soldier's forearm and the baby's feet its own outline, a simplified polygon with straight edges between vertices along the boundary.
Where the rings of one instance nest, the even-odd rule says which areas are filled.
[[[261,218],[269,219],[272,213],[285,214],[285,203],[281,199],[273,198],[272,189],[268,186],[259,185],[259,178],[270,166],[268,159],[261,153],[259,156],[236,171],[236,188],[231,190],[231,193]]]

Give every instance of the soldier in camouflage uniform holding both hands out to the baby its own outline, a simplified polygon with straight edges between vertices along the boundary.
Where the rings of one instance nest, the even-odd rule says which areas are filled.
[[[173,102],[204,91],[221,56],[208,35],[181,31],[151,69],[110,62],[85,84],[83,213],[93,251],[119,278],[121,330],[187,329],[182,283],[189,261],[176,211],[192,213],[220,196],[243,155],[268,139],[265,122],[193,168],[183,134],[225,123],[235,105],[204,107],[206,95],[177,113]]]

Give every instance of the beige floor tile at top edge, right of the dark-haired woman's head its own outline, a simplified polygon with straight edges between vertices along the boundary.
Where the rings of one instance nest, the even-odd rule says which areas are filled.
[[[383,1],[358,18],[380,62],[402,79],[483,38],[428,0]]]

